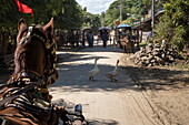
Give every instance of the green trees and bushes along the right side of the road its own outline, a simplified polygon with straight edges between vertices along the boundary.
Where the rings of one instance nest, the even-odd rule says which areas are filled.
[[[135,25],[135,21],[143,21],[147,11],[151,9],[151,0],[116,0],[106,12],[102,12],[102,25],[115,28],[116,21],[120,21],[120,1],[122,1],[122,23]],[[189,51],[189,1],[188,0],[158,0],[155,8],[163,9],[163,14],[155,24],[153,42],[162,40],[173,49],[180,51],[186,58]],[[148,44],[141,43],[141,45]]]

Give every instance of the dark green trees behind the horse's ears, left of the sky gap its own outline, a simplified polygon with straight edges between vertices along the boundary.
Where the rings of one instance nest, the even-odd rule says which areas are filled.
[[[51,17],[54,19],[54,29],[69,30],[71,28],[100,25],[98,14],[87,12],[76,0],[20,0],[33,9],[33,17],[30,13],[18,11],[14,0],[0,0],[0,56],[7,53],[8,44],[16,44],[17,23],[23,18],[28,24],[46,24]]]

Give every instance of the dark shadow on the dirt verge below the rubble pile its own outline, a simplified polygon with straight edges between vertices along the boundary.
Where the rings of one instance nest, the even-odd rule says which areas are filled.
[[[189,85],[189,71],[160,67],[125,66],[141,90],[169,91]]]

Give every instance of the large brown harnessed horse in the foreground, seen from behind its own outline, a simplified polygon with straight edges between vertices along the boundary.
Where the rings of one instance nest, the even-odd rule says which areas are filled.
[[[54,67],[53,19],[44,27],[18,23],[14,72],[0,88],[1,125],[57,125],[63,108],[51,104],[48,85],[58,79]]]

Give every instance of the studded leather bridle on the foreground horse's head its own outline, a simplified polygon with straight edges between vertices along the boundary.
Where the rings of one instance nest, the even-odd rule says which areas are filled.
[[[23,66],[23,70],[14,75],[12,75],[11,77],[11,82],[20,82],[20,81],[39,81],[41,79],[44,79],[44,81],[49,81],[51,79],[51,75],[56,72],[56,41],[53,39],[53,37],[50,37],[49,38],[49,34],[46,35],[41,30],[40,28],[36,28],[36,25],[31,25],[31,27],[28,27],[27,29],[24,29],[22,33],[26,33],[27,34],[21,38],[20,42],[18,43],[17,46],[20,46],[20,45],[24,45],[24,44],[28,44],[29,42],[32,42],[32,39],[38,39],[39,42],[42,43],[43,48],[44,48],[44,51],[47,52],[47,60],[51,61],[51,65],[50,65],[50,69],[47,67],[47,64],[44,66],[44,74],[39,74],[38,72],[36,71],[32,71],[32,70],[28,70],[27,69],[27,65],[26,65],[26,61],[24,61],[24,56],[26,56],[26,53],[23,52],[23,61],[24,61],[24,66]],[[48,63],[48,62],[46,62]],[[9,81],[9,83],[11,83]]]

